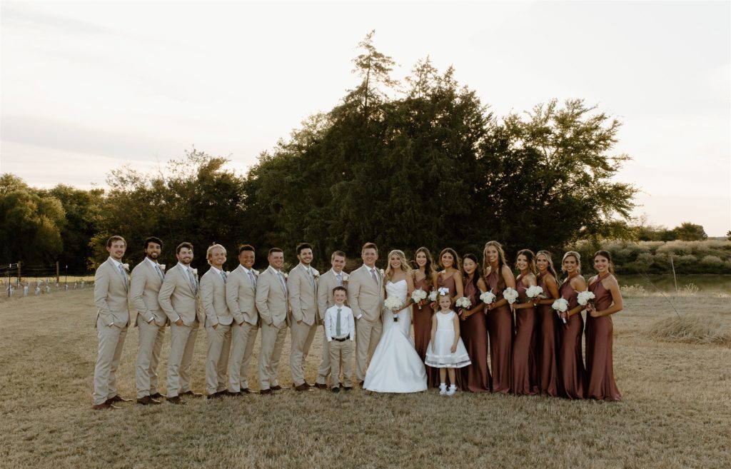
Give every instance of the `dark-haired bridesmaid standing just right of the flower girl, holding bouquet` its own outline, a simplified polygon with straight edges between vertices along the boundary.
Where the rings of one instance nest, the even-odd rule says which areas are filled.
[[[480,264],[477,256],[466,254],[462,259],[464,271],[464,296],[469,298],[472,306],[469,310],[462,310],[460,336],[467,348],[471,365],[463,367],[462,383],[466,390],[471,392],[490,391],[490,370],[488,369],[488,332],[485,329],[485,305],[480,295],[488,290],[482,279]]]

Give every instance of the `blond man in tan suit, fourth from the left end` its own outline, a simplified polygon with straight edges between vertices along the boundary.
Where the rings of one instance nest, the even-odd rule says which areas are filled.
[[[226,248],[214,244],[205,252],[211,268],[200,279],[200,303],[205,312],[205,335],[208,354],[205,356],[205,390],[208,399],[227,394],[226,370],[231,350],[233,316],[226,304]]]

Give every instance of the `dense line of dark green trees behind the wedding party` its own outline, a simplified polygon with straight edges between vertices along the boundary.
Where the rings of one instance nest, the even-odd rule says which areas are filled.
[[[36,189],[2,175],[1,262],[94,267],[110,234],[126,237],[132,262],[147,236],[167,243],[163,262],[191,241],[197,267],[213,242],[250,243],[263,263],[265,249],[291,254],[307,241],[325,264],[338,249],[357,256],[365,241],[481,253],[494,239],[512,253],[648,235],[629,223],[637,188],[615,180],[629,159],[613,153],[616,118],[582,99],[498,118],[428,57],[393,80],[395,62],[373,39],[371,31],[359,44],[357,86],[246,175],[195,148],[156,173],[112,169],[107,190]]]

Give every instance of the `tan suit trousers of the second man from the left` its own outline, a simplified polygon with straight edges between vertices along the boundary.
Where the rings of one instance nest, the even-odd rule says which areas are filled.
[[[162,341],[165,338],[165,327],[158,326],[154,320],[148,323],[143,316],[137,315],[137,329],[140,340],[137,343],[135,381],[137,381],[137,399],[142,399],[157,392],[157,366],[160,362]]]

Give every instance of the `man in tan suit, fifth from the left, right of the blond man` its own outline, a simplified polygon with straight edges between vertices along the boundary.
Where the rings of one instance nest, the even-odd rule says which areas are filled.
[[[255,253],[251,245],[238,248],[239,266],[228,276],[226,303],[233,316],[231,326],[231,359],[229,361],[229,394],[250,394],[249,360],[259,330],[257,310],[257,276]]]

